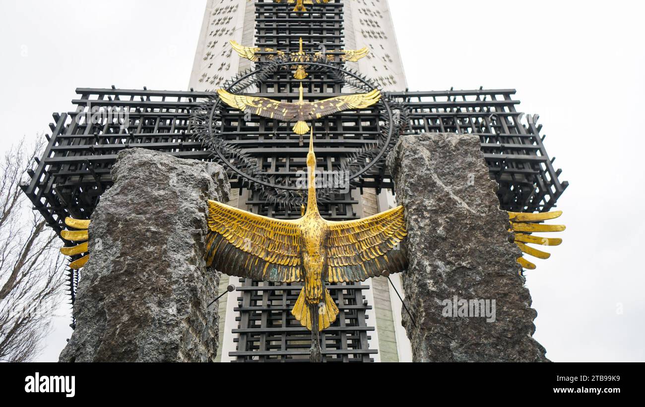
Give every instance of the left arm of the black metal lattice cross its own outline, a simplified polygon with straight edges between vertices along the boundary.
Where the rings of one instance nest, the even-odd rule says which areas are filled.
[[[119,151],[144,147],[181,158],[204,160],[210,155],[188,120],[201,92],[148,90],[76,90],[74,112],[53,115],[52,135],[31,180],[21,185],[34,209],[60,232],[65,216],[89,219],[99,196],[112,185],[110,169]],[[128,109],[126,128],[92,109]]]

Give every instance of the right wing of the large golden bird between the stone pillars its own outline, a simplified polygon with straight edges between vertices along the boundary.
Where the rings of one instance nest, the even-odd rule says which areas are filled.
[[[402,206],[359,220],[327,223],[330,283],[364,281],[408,268],[405,254],[393,250],[408,234]]]

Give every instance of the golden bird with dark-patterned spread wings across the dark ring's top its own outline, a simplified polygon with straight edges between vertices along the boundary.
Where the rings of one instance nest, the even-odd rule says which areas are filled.
[[[381,100],[381,91],[375,89],[368,93],[342,95],[317,102],[304,102],[303,84],[300,84],[300,97],[297,102],[281,102],[266,97],[235,95],[224,89],[218,89],[219,98],[228,106],[241,111],[249,109],[251,113],[283,122],[297,120],[293,132],[297,135],[308,133],[309,126],[305,120],[315,120],[349,109],[364,109]]]

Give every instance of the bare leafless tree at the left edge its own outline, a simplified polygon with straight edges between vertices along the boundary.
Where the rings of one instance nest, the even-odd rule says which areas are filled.
[[[0,163],[0,361],[30,361],[41,352],[63,292],[60,241],[19,187],[42,147],[23,139]]]

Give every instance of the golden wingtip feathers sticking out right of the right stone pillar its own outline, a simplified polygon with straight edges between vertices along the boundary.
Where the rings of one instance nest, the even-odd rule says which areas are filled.
[[[534,236],[533,232],[561,232],[566,229],[564,225],[543,225],[541,222],[559,218],[562,211],[553,211],[546,213],[523,213],[523,212],[509,212],[508,218],[511,221],[510,232],[515,232],[515,244],[520,250],[530,256],[539,259],[548,259],[551,254],[535,249],[526,243],[543,245],[543,246],[557,246],[562,243],[560,238],[542,238],[541,236]],[[526,260],[523,257],[517,259],[517,262],[524,267],[524,269],[535,270],[535,264]]]

